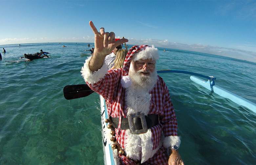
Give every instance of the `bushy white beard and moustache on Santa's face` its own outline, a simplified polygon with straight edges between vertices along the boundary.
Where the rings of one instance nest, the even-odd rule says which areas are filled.
[[[144,72],[144,70],[141,69],[139,71],[135,71],[133,65],[131,64],[128,75],[132,79],[132,84],[135,88],[140,87],[150,91],[157,82],[157,71],[156,69],[152,73],[149,71],[150,75],[148,76],[141,74],[141,72]]]

